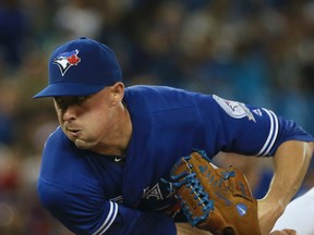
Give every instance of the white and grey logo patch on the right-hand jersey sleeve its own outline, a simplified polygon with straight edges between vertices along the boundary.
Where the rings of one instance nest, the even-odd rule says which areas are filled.
[[[214,95],[213,98],[230,116],[234,119],[242,119],[242,118],[247,116],[250,121],[252,120],[256,122],[254,119],[254,115],[249,110],[249,108],[245,107],[244,103],[232,101],[232,100],[226,100],[216,95]]]

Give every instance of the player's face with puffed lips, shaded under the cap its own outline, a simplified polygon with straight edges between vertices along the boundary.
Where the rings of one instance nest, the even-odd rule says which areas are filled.
[[[100,144],[113,126],[110,87],[92,96],[55,97],[53,102],[62,131],[80,149]]]

